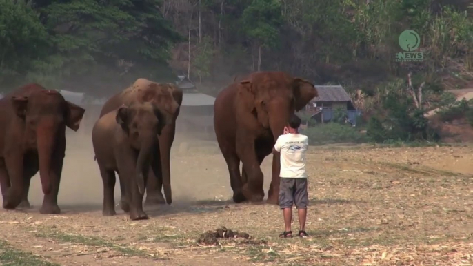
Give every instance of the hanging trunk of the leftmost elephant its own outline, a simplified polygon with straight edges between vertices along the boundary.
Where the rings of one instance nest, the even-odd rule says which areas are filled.
[[[44,194],[51,192],[51,157],[53,155],[55,145],[54,138],[56,136],[57,127],[53,123],[44,124],[37,127],[37,148],[39,157],[39,177]]]

